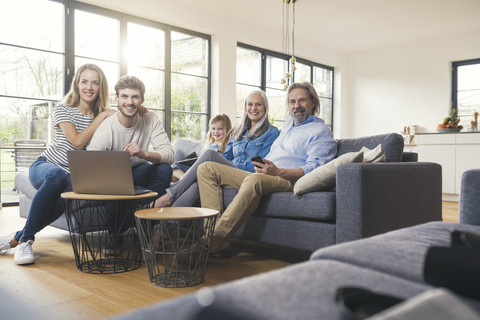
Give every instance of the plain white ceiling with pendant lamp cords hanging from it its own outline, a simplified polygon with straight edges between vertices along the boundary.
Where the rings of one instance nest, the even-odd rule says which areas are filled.
[[[282,0],[176,1],[282,30]],[[297,0],[295,10],[296,39],[343,53],[480,31],[480,0]]]

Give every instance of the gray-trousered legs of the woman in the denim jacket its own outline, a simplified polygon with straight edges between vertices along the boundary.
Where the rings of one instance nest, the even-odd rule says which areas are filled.
[[[221,163],[230,167],[235,167],[233,163],[225,159],[220,153],[215,150],[207,149],[203,152],[200,157],[195,161],[193,166],[185,173],[185,175],[180,179],[177,183],[175,183],[172,187],[166,190],[166,194],[162,197],[158,198],[155,202],[155,207],[165,207],[172,205],[181,195],[183,195],[189,188],[197,182],[197,169],[198,166],[204,162],[213,161],[217,163]],[[188,200],[184,200],[189,202]],[[190,202],[194,202],[190,201]]]

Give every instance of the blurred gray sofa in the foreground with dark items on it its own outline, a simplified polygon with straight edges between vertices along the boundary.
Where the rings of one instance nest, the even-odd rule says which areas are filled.
[[[480,170],[465,173],[461,220],[480,215],[479,190]],[[403,228],[322,248],[309,261],[201,289],[115,320],[352,319],[336,302],[337,290],[351,286],[405,299],[372,320],[480,319],[479,300],[424,280],[427,250],[450,246],[452,230],[480,235],[480,226],[466,223],[429,222]]]

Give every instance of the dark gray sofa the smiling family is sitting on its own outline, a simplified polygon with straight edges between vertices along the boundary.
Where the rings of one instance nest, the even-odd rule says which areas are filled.
[[[403,152],[396,133],[338,140],[337,157],[363,146],[382,144],[385,163],[352,163],[337,168],[336,187],[324,192],[295,196],[275,193],[262,199],[259,208],[238,230],[236,237],[294,249],[314,250],[387,231],[442,219],[441,166],[417,162],[415,153]],[[175,160],[203,143],[177,139]],[[20,216],[26,217],[35,194],[26,174],[16,176]],[[225,189],[225,207],[237,193]],[[52,226],[66,229],[64,216]]]

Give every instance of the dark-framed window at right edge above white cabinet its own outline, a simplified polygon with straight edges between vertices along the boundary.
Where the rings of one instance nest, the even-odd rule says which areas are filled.
[[[458,109],[464,128],[470,128],[473,114],[480,113],[480,59],[453,63],[452,107]]]

